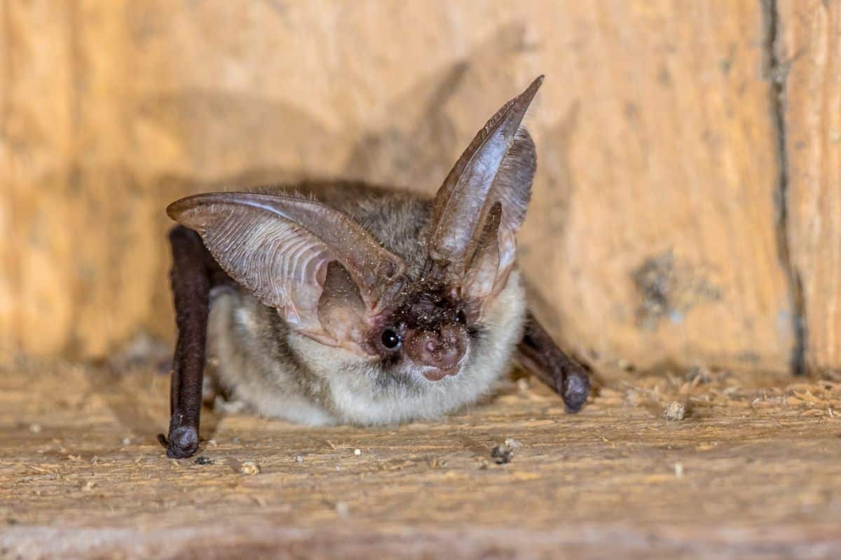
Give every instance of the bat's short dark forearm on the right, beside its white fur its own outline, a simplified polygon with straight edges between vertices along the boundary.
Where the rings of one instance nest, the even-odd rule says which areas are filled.
[[[587,371],[558,348],[531,311],[527,314],[523,338],[517,347],[517,360],[557,391],[569,411],[579,411],[590,395]]]

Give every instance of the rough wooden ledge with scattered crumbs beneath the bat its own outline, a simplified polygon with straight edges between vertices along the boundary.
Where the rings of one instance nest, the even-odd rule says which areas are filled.
[[[0,373],[0,557],[841,553],[841,379],[602,376],[576,416],[524,379],[391,428],[208,410],[199,455],[212,463],[197,464],[156,442],[161,374]],[[682,420],[661,417],[669,402]],[[497,464],[506,439],[519,447]]]

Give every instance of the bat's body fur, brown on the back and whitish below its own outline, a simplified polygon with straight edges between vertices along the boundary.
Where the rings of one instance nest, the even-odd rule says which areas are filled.
[[[261,191],[290,193],[282,187]],[[402,291],[406,295],[403,312],[405,316],[424,314],[405,317],[409,321],[426,319],[441,326],[455,321],[456,307],[468,305],[439,301],[443,309],[430,319],[428,307],[416,301],[417,292],[429,290],[423,275],[429,270],[424,239],[430,201],[407,192],[346,183],[299,186],[293,192],[346,212],[385,249],[405,259],[413,284]],[[521,339],[524,301],[520,275],[513,270],[479,322],[468,325],[467,355],[458,374],[437,381],[408,370],[399,358],[383,362],[327,348],[290,330],[276,310],[262,305],[247,290],[229,286],[215,289],[211,297],[208,354],[214,358],[218,384],[267,416],[310,425],[431,418],[493,390]]]

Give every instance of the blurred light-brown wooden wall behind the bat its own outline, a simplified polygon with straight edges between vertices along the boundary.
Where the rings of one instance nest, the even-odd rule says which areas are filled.
[[[841,2],[0,3],[0,356],[169,348],[167,203],[431,193],[534,76],[521,264],[599,367],[841,368]]]

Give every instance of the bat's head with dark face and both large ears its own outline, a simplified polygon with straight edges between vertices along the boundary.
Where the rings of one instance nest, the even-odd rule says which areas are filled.
[[[368,371],[441,382],[495,352],[477,340],[505,323],[488,316],[509,282],[531,196],[535,149],[521,121],[541,82],[500,108],[423,203],[411,257],[389,248],[370,223],[300,196],[211,193],[167,212],[321,353],[344,348]]]

